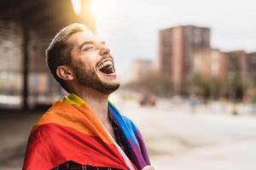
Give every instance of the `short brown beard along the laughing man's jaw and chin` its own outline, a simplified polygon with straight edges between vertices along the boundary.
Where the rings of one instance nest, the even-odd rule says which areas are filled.
[[[119,83],[110,84],[108,82],[102,82],[94,70],[80,68],[79,66],[73,65],[73,71],[77,77],[79,85],[96,89],[102,94],[111,94],[120,86]]]

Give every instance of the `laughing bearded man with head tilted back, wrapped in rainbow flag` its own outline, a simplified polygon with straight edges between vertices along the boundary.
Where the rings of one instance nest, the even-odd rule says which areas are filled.
[[[69,95],[32,128],[23,169],[154,169],[136,125],[108,102],[119,79],[105,42],[72,24],[49,44],[46,61]]]

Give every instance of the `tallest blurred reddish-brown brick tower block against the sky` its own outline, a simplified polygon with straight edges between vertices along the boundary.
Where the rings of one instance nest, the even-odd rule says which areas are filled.
[[[159,32],[160,74],[172,79],[173,91],[187,94],[191,72],[192,54],[211,48],[210,28],[199,26],[175,26]]]

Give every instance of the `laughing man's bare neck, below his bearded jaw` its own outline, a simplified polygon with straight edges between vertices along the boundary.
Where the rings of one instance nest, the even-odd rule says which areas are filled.
[[[93,88],[77,88],[73,90],[73,94],[78,95],[84,99],[88,105],[95,112],[96,116],[102,123],[108,122],[108,95],[102,94]]]

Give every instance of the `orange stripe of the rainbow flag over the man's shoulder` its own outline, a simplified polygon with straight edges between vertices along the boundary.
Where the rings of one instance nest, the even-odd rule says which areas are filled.
[[[49,111],[44,113],[32,131],[46,123],[57,123],[72,127],[85,135],[97,136],[106,144],[113,144],[113,139],[110,138],[102,122],[99,121],[90,106],[85,103],[79,106],[57,101]]]

